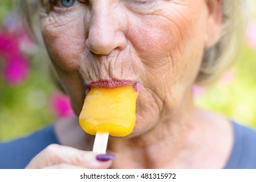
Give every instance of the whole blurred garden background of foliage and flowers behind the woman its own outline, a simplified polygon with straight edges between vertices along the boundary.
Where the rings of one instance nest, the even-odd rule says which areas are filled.
[[[70,100],[50,77],[48,59],[27,36],[12,10],[0,2],[0,140],[27,135],[72,116]],[[249,21],[246,45],[233,68],[207,87],[194,86],[195,103],[256,128],[256,16]]]

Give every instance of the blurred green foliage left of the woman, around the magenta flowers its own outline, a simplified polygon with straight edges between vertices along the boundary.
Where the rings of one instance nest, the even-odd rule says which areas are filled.
[[[0,1],[0,30],[13,1]],[[35,131],[55,120],[48,98],[54,90],[48,66],[42,59],[29,62],[30,74],[23,83],[10,86],[3,79],[3,57],[0,57],[0,140],[8,140]]]

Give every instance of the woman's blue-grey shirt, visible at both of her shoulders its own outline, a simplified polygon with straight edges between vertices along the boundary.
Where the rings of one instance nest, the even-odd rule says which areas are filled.
[[[256,131],[233,122],[235,143],[225,168],[256,169]],[[53,125],[12,140],[0,142],[0,168],[25,168],[37,153],[50,144],[59,144]]]

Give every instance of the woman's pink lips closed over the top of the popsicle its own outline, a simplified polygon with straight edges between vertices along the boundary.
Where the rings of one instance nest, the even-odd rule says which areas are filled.
[[[120,79],[100,79],[89,83],[89,88],[117,88],[121,86],[134,86],[134,91],[140,93],[141,85],[137,81]]]

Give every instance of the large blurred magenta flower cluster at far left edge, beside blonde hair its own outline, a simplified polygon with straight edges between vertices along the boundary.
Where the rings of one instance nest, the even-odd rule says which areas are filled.
[[[35,50],[35,45],[25,33],[18,15],[10,12],[0,30],[0,57],[4,61],[3,77],[8,85],[19,85],[29,75],[29,59],[25,53]]]

